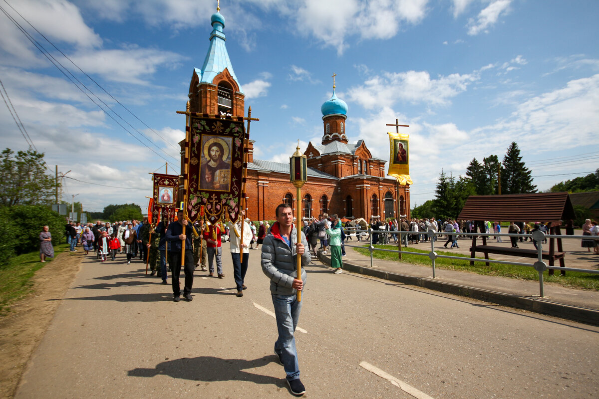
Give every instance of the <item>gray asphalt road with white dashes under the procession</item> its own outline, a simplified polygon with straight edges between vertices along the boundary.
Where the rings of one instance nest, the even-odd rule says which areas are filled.
[[[260,252],[238,298],[227,251],[225,278],[196,270],[193,301],[179,303],[142,263],[84,260],[16,398],[292,397]],[[318,262],[307,272],[296,332],[305,397],[599,397],[599,327]]]

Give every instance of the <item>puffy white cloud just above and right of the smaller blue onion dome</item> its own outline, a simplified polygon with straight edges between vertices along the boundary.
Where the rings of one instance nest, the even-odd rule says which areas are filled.
[[[464,92],[468,84],[478,80],[475,74],[451,74],[431,79],[426,71],[386,72],[348,90],[348,99],[367,109],[382,103],[394,104],[398,99],[411,103],[445,105]]]

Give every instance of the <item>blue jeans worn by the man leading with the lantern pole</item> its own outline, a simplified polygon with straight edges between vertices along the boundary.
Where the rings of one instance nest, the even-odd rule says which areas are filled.
[[[298,325],[299,312],[302,302],[297,301],[297,296],[277,295],[273,297],[274,314],[277,319],[279,338],[274,343],[274,351],[281,358],[288,380],[299,378],[298,352],[295,348],[295,327]],[[302,300],[304,294],[302,293]]]

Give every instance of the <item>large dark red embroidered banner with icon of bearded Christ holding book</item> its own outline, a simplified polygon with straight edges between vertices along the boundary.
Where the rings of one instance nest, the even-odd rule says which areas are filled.
[[[237,220],[244,168],[243,118],[190,117],[187,217],[198,219],[201,207],[215,224],[226,212]]]

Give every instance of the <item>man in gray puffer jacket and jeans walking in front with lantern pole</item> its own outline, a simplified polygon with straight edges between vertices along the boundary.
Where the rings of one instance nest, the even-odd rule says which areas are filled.
[[[270,279],[270,292],[279,331],[279,337],[274,343],[274,353],[279,358],[279,363],[285,367],[291,393],[301,396],[305,393],[305,388],[299,380],[294,336],[302,304],[297,300],[297,291],[304,288],[306,274],[303,267],[310,263],[311,257],[310,251],[305,251],[308,243],[304,234],[301,234],[301,243],[297,242],[298,230],[293,224],[294,213],[291,206],[282,203],[277,206],[275,215],[277,221],[270,227],[262,243],[262,272]],[[301,279],[297,279],[297,254],[301,255]]]

